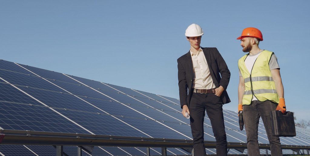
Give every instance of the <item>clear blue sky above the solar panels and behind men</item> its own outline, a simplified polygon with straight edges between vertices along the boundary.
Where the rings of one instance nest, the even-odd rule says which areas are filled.
[[[263,33],[259,47],[276,54],[286,107],[309,120],[310,1],[0,1],[0,58],[179,99],[177,58],[196,23],[202,47],[216,47],[231,78],[237,111],[236,38],[246,27]]]

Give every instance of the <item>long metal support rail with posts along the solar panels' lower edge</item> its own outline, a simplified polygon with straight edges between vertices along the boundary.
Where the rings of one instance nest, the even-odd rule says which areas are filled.
[[[166,154],[166,148],[182,148],[191,153],[193,140],[128,137],[112,135],[92,135],[74,133],[55,133],[39,131],[0,130],[0,145],[53,145],[56,146],[57,155],[63,154],[62,146],[115,146],[115,147],[159,147],[162,155]],[[205,141],[206,148],[216,148],[215,141]],[[309,154],[310,146],[281,145],[282,149],[290,149],[299,154],[299,150],[306,150]],[[236,149],[243,153],[247,149],[246,143],[228,142],[228,149]],[[259,144],[259,149],[270,149],[269,144]],[[79,148],[81,151],[81,148]],[[85,149],[88,152],[90,150]],[[81,153],[81,152],[79,152]],[[192,152],[193,153],[193,152]],[[268,153],[268,151],[266,152]],[[149,150],[147,150],[149,155]]]

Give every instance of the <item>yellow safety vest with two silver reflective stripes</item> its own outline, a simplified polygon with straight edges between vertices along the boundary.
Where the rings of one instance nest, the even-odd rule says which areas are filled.
[[[269,68],[269,61],[273,52],[267,50],[262,51],[255,60],[251,73],[249,73],[244,63],[248,55],[244,55],[238,61],[238,66],[245,83],[242,104],[251,104],[253,96],[259,101],[270,100],[279,103],[276,85]]]

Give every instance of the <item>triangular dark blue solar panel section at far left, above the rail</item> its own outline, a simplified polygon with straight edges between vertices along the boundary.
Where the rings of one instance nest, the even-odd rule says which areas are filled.
[[[2,129],[89,134],[9,84],[0,83],[0,93]]]

